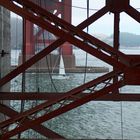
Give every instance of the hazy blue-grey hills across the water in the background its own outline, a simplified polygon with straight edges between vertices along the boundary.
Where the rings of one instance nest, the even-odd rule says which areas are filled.
[[[112,45],[113,35],[106,36],[103,34],[95,34],[95,37]],[[13,49],[19,49],[22,46],[22,20],[11,18],[11,45]],[[120,33],[120,46],[122,47],[140,47],[140,35],[132,33]]]

